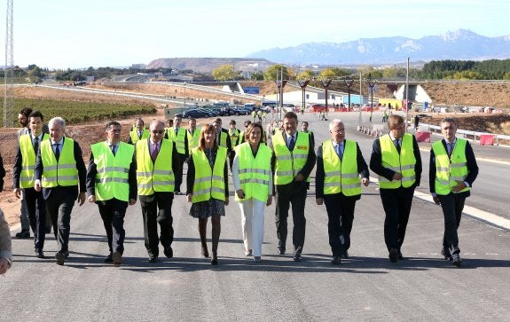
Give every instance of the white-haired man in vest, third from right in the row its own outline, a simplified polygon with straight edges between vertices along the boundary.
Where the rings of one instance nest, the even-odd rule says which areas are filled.
[[[331,139],[317,149],[315,198],[318,205],[326,204],[331,263],[338,265],[342,257],[349,258],[354,208],[361,198],[361,184],[367,186],[370,179],[359,145],[345,139],[343,122],[334,119],[329,132]]]

